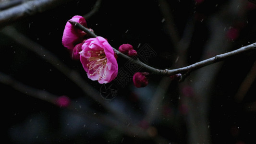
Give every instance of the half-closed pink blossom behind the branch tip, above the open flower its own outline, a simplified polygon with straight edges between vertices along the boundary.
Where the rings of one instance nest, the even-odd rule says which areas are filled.
[[[75,15],[70,21],[78,22],[87,27],[85,18],[82,16]],[[85,32],[67,22],[62,36],[62,45],[68,49],[73,49],[77,44],[83,42],[85,35]]]

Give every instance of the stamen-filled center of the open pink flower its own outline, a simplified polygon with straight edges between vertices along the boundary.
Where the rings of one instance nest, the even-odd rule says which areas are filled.
[[[94,75],[95,73],[99,74],[98,79],[106,78],[107,73],[107,58],[103,50],[101,51],[88,51],[88,53],[92,53],[91,57],[88,58],[89,63],[87,67],[89,71],[93,70],[94,72],[90,75]]]

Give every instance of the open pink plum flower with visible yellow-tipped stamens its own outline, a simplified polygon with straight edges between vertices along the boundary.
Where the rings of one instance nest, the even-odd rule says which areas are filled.
[[[113,48],[108,41],[98,36],[89,38],[82,45],[80,61],[89,79],[99,84],[110,83],[118,73],[118,64]]]

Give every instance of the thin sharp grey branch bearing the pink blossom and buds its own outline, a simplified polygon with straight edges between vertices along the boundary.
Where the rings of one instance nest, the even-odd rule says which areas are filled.
[[[90,32],[83,25],[81,25],[81,24],[79,24],[77,22],[74,22],[74,21],[69,21],[69,22],[70,22],[70,24],[74,25],[75,27],[83,30],[85,33],[87,33],[91,37],[97,37],[97,35],[95,35],[94,33]],[[183,68],[173,69],[173,70],[169,70],[169,69],[159,70],[159,69],[153,68],[153,67],[151,67],[149,65],[146,65],[145,63],[141,62],[138,59],[132,59],[131,57],[128,57],[127,55],[124,55],[123,53],[119,52],[115,48],[113,48],[113,49],[114,49],[114,51],[116,52],[116,54],[118,56],[121,56],[121,57],[123,57],[124,59],[127,59],[127,60],[132,60],[133,62],[135,62],[135,63],[139,64],[140,66],[142,66],[148,72],[151,72],[153,74],[158,74],[158,75],[171,76],[173,74],[178,74],[178,73],[182,73],[182,74],[183,73],[189,73],[189,72],[195,71],[197,69],[200,69],[202,67],[205,67],[207,65],[210,65],[210,64],[213,64],[213,63],[225,60],[227,58],[230,58],[230,57],[232,57],[234,55],[243,53],[245,51],[256,50],[256,43],[253,43],[253,44],[248,45],[248,46],[244,46],[242,48],[233,50],[231,52],[227,52],[227,53],[224,53],[224,54],[217,55],[217,56],[209,58],[207,60],[202,60],[200,62],[196,62],[196,63],[194,63],[192,65],[189,65],[189,66],[186,66],[186,67],[183,67]]]

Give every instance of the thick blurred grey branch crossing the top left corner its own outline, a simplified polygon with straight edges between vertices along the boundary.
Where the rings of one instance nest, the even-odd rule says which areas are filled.
[[[0,12],[0,27],[11,24],[21,18],[45,12],[70,0],[31,0]]]

